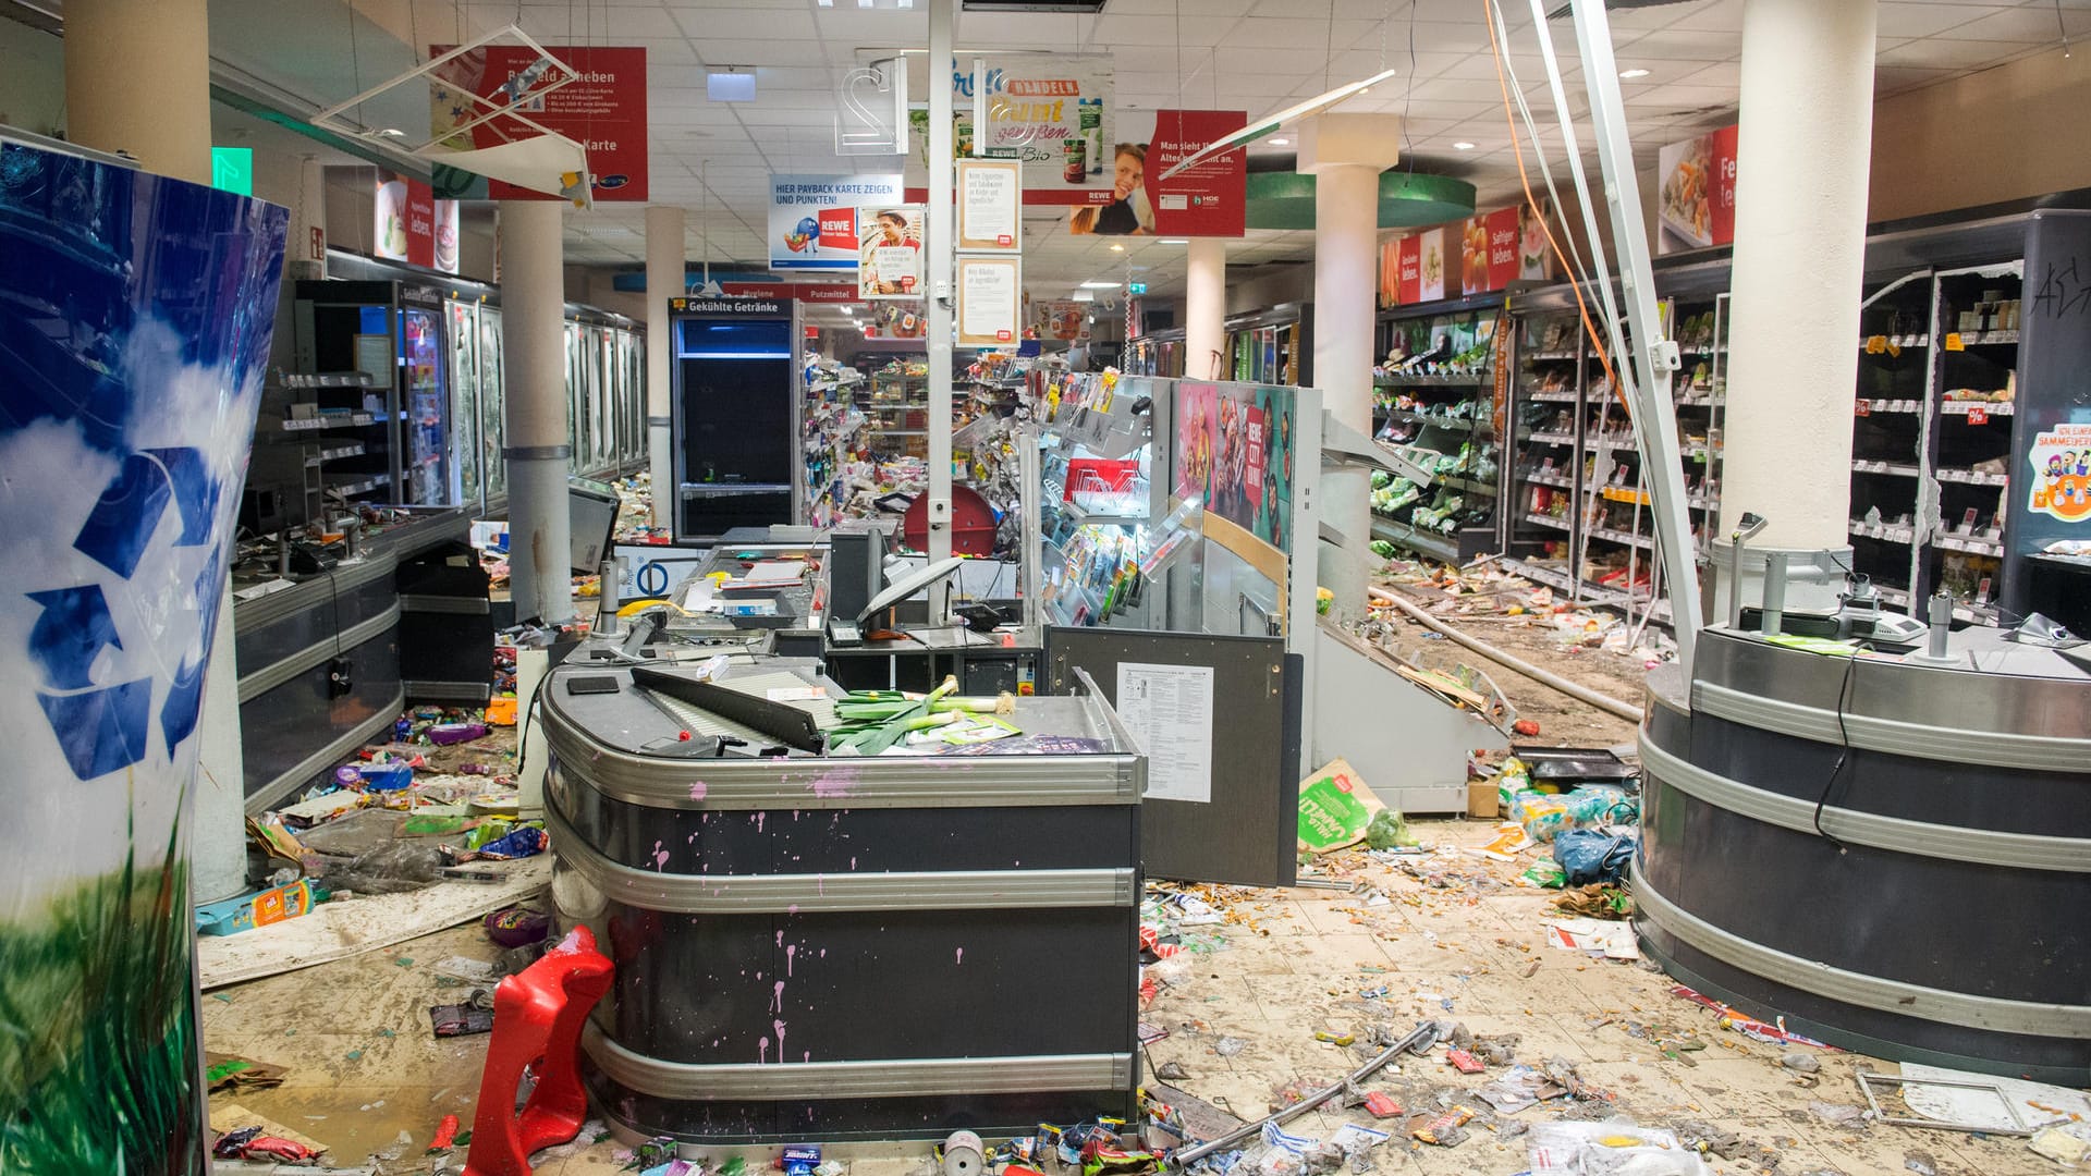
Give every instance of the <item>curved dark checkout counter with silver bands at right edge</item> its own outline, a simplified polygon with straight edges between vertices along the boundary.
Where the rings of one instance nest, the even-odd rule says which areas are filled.
[[[2091,644],[1825,655],[1715,626],[1648,676],[1635,925],[1683,983],[1874,1057],[2091,1080]]]

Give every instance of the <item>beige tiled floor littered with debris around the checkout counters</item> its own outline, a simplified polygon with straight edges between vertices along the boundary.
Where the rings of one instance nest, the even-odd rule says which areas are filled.
[[[1416,831],[1424,841],[1457,847],[1483,843],[1491,827],[1420,822]],[[1376,889],[1382,904],[1355,891],[1227,891],[1225,925],[1186,929],[1221,946],[1161,969],[1169,983],[1144,1019],[1169,1036],[1148,1048],[1150,1073],[1175,1063],[1184,1071],[1177,1088],[1242,1117],[1261,1117],[1273,1090],[1313,1088],[1370,1057],[1363,1042],[1374,1030],[1401,1036],[1426,1017],[1447,1017],[1483,1036],[1518,1034],[1518,1061],[1562,1059],[1614,1101],[1549,1101],[1495,1126],[1478,1120],[1449,1149],[1397,1134],[1376,1151],[1382,1172],[1520,1172],[1526,1151],[1518,1132],[1564,1113],[1616,1113],[1644,1126],[1696,1120],[1733,1132],[1742,1151],[1733,1159],[1715,1157],[1719,1172],[1905,1174],[1913,1153],[1928,1153],[1940,1176],[2053,1170],[2024,1140],[1830,1126],[1811,1113],[1811,1103],[1863,1105],[1855,1069],[1892,1071],[1892,1065],[1809,1050],[1821,1073],[1805,1084],[1811,1080],[1779,1065],[1786,1050],[1723,1032],[1713,1013],[1671,996],[1660,973],[1545,946],[1547,891],[1510,885],[1518,868],[1522,862],[1510,866],[1453,850],[1424,870],[1441,877],[1443,885],[1432,885],[1351,854],[1332,864],[1330,877]],[[470,1124],[487,1042],[431,1038],[427,1009],[464,992],[439,983],[431,967],[450,954],[491,958],[493,948],[477,927],[460,927],[224,990],[203,1000],[205,1040],[213,1050],[291,1067],[278,1090],[236,1101],[328,1143],[332,1163],[362,1163],[391,1151],[397,1159],[385,1161],[385,1172],[429,1172],[422,1149],[437,1120],[456,1113]],[[1382,983],[1384,998],[1359,996]],[[1317,1042],[1317,1030],[1355,1034],[1359,1044]],[[1217,1048],[1227,1038],[1242,1042],[1232,1057]],[[1675,1050],[1673,1061],[1652,1038],[1698,1048]],[[1409,1109],[1485,1107],[1474,1090],[1497,1076],[1499,1069],[1460,1076],[1437,1050],[1403,1059],[1368,1088],[1388,1090]],[[1288,1130],[1326,1136],[1345,1120],[1370,1122],[1370,1115],[1313,1113]],[[399,1143],[399,1132],[408,1143]],[[598,1143],[546,1157],[537,1172],[615,1172],[617,1151]],[[454,1166],[462,1168],[462,1157]],[[922,1153],[910,1147],[889,1159],[853,1161],[853,1176],[914,1176],[922,1166]]]

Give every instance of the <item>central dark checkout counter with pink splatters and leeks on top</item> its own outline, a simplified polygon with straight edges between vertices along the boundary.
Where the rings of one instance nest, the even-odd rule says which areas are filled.
[[[1133,1117],[1146,760],[1094,684],[1018,699],[1018,739],[849,755],[805,739],[834,714],[807,688],[841,691],[818,659],[728,653],[723,707],[669,659],[717,655],[675,644],[598,636],[537,695],[554,906],[617,965],[581,1036],[613,1128],[740,1145]]]

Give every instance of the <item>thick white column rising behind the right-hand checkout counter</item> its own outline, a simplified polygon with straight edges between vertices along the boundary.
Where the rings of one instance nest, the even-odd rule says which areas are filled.
[[[1754,511],[1769,525],[1750,550],[1851,546],[1867,201],[1853,144],[1874,138],[1874,0],[1742,10],[1721,536]],[[1727,559],[1715,563],[1725,575]]]

